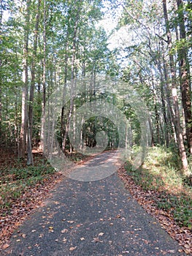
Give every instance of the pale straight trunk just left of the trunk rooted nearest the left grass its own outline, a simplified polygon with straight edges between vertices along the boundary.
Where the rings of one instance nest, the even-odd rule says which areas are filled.
[[[24,25],[24,47],[23,47],[23,89],[21,105],[21,127],[20,127],[20,151],[19,157],[25,157],[26,135],[27,135],[27,100],[28,100],[28,34],[30,20],[31,0],[26,1],[26,14]]]

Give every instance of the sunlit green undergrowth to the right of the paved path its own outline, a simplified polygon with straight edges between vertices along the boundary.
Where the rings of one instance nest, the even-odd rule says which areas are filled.
[[[154,204],[172,214],[177,224],[192,229],[191,178],[182,176],[177,152],[161,146],[150,148],[138,170],[126,165],[128,174],[144,190],[155,190]]]

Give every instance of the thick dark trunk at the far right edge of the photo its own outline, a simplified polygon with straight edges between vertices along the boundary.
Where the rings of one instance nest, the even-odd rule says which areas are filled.
[[[180,40],[186,39],[185,20],[183,14],[183,0],[176,0],[178,7]],[[183,109],[185,114],[186,136],[188,148],[192,154],[192,112],[191,112],[191,89],[190,89],[190,69],[188,65],[188,47],[185,42],[179,49],[179,66],[180,66],[180,88],[182,94]]]

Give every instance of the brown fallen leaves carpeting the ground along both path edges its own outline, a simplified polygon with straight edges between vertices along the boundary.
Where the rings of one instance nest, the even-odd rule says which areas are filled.
[[[31,169],[31,173],[36,173],[37,170],[41,169],[42,172],[37,172],[36,178],[31,178],[30,172],[28,172],[28,176],[23,176],[23,173],[26,173],[26,166],[23,162],[18,162],[15,159],[14,154],[8,153],[6,151],[1,152],[1,162],[0,162],[0,170],[1,170],[1,208],[0,208],[0,241],[1,241],[1,249],[9,249],[9,238],[14,233],[15,229],[20,226],[26,217],[34,211],[34,208],[40,208],[43,206],[44,201],[47,197],[50,197],[48,192],[52,191],[56,184],[60,186],[62,182],[66,182],[66,177],[63,176],[62,173],[55,173],[53,168],[44,165],[42,163],[42,156],[39,154],[35,154],[35,166]],[[82,156],[74,156],[74,160],[80,160]],[[80,164],[85,162],[86,160],[93,158],[88,157],[87,159],[82,159]],[[39,168],[40,166],[40,168]],[[15,170],[10,171],[10,170]],[[20,176],[15,176],[16,173],[20,173]],[[23,170],[23,171],[20,171]],[[48,170],[48,171],[45,171]],[[191,229],[189,227],[180,227],[180,225],[175,222],[172,214],[169,211],[165,211],[162,208],[159,209],[154,205],[154,198],[160,198],[160,192],[151,190],[151,189],[142,189],[140,185],[138,185],[134,178],[128,175],[128,172],[124,167],[121,167],[118,170],[118,175],[123,179],[125,187],[131,193],[131,195],[137,199],[140,205],[142,205],[145,210],[152,214],[158,221],[161,223],[161,226],[169,233],[172,238],[177,240],[182,247],[179,249],[180,253],[185,252],[185,254],[189,255],[192,253],[191,248]],[[18,186],[18,178],[20,178],[20,185]],[[29,182],[28,180],[31,181]],[[26,181],[28,181],[26,183]],[[69,183],[69,181],[68,181]],[[8,185],[7,191],[4,191],[3,188]],[[20,187],[18,193],[18,187]],[[23,186],[22,186],[23,185]],[[12,189],[13,188],[13,189]],[[17,188],[16,191],[14,188]],[[12,193],[9,195],[9,189],[12,190]],[[168,198],[169,200],[169,198]],[[101,218],[102,219],[102,218]],[[50,231],[52,228],[50,228]],[[101,232],[102,233],[102,232]],[[25,238],[26,234],[18,233],[18,243],[20,242],[20,238]],[[100,242],[100,241],[98,241]],[[73,248],[72,246],[70,248]],[[75,250],[75,249],[74,249]],[[171,249],[170,252],[175,254],[175,251]],[[3,252],[3,251],[1,251]],[[125,251],[126,252],[126,251]],[[166,255],[166,251],[162,251],[162,255]]]

